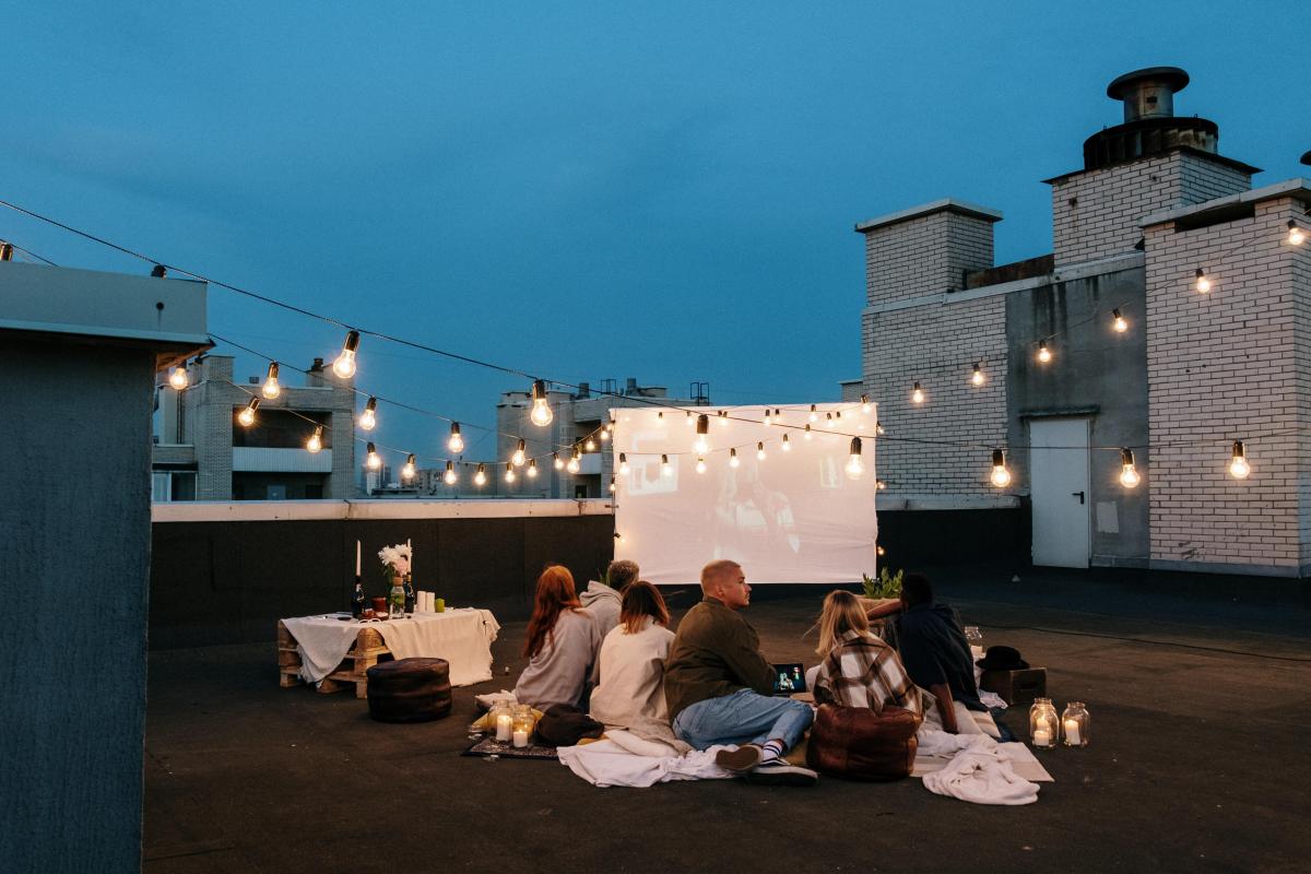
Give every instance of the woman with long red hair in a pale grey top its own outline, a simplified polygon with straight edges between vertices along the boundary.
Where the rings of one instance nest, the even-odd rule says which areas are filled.
[[[556,704],[586,709],[591,668],[600,649],[600,632],[574,595],[573,574],[552,565],[538,578],[523,654],[528,667],[519,675],[514,697],[539,710]]]

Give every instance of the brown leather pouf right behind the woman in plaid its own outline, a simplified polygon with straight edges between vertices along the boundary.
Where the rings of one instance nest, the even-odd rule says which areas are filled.
[[[919,717],[901,708],[819,705],[806,744],[806,764],[852,780],[901,780],[915,765]]]

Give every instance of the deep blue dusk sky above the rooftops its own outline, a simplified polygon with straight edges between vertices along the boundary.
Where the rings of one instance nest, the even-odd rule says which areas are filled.
[[[4,13],[0,198],[353,325],[725,405],[860,376],[856,221],[954,197],[1004,212],[999,263],[1050,252],[1040,181],[1120,123],[1120,73],[1185,68],[1176,113],[1253,186],[1311,148],[1289,3],[45,5]],[[0,238],[149,270],[10,211]],[[210,330],[298,367],[343,334],[222,288]],[[469,436],[527,388],[370,338],[359,360]],[[379,413],[379,443],[443,455],[440,423]]]

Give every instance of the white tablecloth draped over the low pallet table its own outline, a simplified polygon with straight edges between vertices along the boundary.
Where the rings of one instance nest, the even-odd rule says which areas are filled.
[[[492,611],[465,607],[444,613],[414,613],[384,622],[343,622],[333,617],[284,618],[296,651],[300,679],[317,683],[337,670],[355,636],[371,628],[383,636],[392,658],[439,658],[451,664],[451,685],[472,685],[492,679],[492,641],[501,624]]]

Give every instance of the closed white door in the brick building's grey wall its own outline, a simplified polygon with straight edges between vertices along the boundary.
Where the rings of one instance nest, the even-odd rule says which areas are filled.
[[[1088,419],[1032,419],[1029,447],[1033,563],[1087,567]]]

